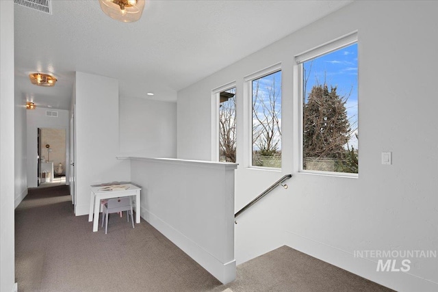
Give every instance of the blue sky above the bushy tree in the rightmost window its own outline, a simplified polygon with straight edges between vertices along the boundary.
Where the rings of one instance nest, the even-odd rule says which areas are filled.
[[[324,84],[337,87],[339,96],[348,96],[346,109],[350,126],[357,129],[357,44],[352,44],[337,51],[311,59],[303,64],[306,74],[309,74],[306,93],[309,94],[313,85]],[[351,92],[351,93],[350,93]],[[305,96],[307,101],[307,96]],[[350,146],[358,148],[355,137]]]

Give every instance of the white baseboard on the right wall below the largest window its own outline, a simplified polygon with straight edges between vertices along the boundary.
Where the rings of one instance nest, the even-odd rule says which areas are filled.
[[[313,241],[295,233],[285,232],[285,244],[295,250],[335,265],[353,274],[396,291],[438,291],[438,283],[403,271],[376,271],[377,262]]]

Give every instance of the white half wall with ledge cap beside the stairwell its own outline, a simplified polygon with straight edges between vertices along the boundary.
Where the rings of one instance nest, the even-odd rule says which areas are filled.
[[[144,220],[224,284],[235,280],[236,167],[235,163],[131,158],[131,181],[142,187]]]

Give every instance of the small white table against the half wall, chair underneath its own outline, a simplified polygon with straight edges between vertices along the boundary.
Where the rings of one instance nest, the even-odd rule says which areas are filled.
[[[88,222],[93,222],[93,232],[96,232],[99,226],[99,213],[101,209],[101,200],[110,198],[119,198],[127,196],[136,196],[136,223],[140,223],[140,187],[132,185],[131,183],[124,183],[121,185],[129,186],[128,189],[101,191],[105,186],[91,187],[90,196],[90,213],[88,215]],[[94,218],[93,218],[94,214]]]

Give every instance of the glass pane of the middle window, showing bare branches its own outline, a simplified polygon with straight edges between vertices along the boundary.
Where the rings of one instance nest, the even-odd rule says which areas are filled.
[[[252,81],[253,166],[281,168],[281,71]]]

